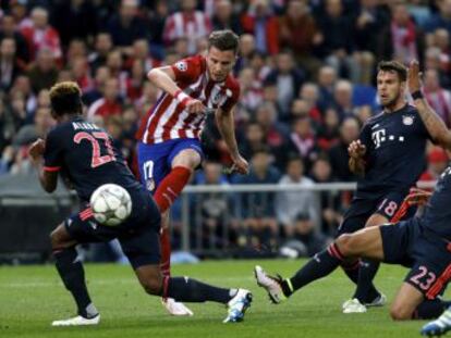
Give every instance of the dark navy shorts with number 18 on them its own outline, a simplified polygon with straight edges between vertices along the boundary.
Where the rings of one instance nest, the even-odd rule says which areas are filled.
[[[393,190],[377,199],[354,198],[343,215],[343,222],[338,228],[337,236],[364,228],[366,221],[375,213],[385,216],[390,222],[407,195],[409,190],[405,192]],[[410,208],[404,218],[413,216],[415,211],[415,208]]]

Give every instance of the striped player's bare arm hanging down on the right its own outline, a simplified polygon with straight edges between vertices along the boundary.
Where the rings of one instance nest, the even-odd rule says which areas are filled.
[[[216,111],[216,123],[218,125],[219,133],[222,136],[227,147],[229,148],[230,155],[233,161],[233,168],[240,174],[248,173],[248,163],[240,154],[235,138],[235,122],[233,118],[233,107],[229,110],[219,108]]]

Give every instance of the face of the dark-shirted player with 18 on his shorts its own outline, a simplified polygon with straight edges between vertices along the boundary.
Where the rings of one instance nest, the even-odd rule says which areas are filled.
[[[391,107],[398,102],[405,89],[395,72],[380,71],[377,75],[377,93],[382,107]]]

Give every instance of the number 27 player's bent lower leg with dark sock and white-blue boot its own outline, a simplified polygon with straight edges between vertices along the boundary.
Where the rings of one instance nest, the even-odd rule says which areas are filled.
[[[223,323],[242,322],[252,303],[252,293],[245,289],[218,288],[190,277],[163,277],[156,265],[143,265],[135,272],[147,293],[183,302],[212,301],[226,304],[228,315]]]

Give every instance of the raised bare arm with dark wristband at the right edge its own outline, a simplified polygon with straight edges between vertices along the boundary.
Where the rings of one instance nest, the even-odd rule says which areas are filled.
[[[414,104],[418,111],[423,123],[430,137],[441,147],[451,150],[451,132],[447,128],[443,121],[430,108],[420,92],[419,65],[416,60],[411,62],[409,67],[409,90],[414,99]]]

